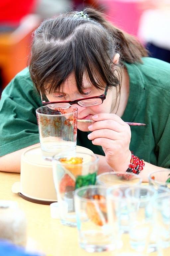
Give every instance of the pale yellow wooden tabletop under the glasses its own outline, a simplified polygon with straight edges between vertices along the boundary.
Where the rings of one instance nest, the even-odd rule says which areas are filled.
[[[20,174],[0,172],[0,200],[17,201],[27,218],[27,248],[48,256],[116,256],[113,252],[90,254],[78,245],[76,228],[63,226],[58,219],[50,217],[49,205],[31,203],[11,191],[12,185],[20,181]],[[124,248],[128,250],[128,237],[124,235]],[[135,255],[135,254],[134,254]],[[156,256],[157,253],[149,254]],[[132,254],[131,254],[132,256]],[[168,256],[168,255],[167,255]]]

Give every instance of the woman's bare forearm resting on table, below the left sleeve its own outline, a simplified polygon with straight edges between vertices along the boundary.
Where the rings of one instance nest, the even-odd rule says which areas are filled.
[[[20,166],[21,166],[21,155],[22,153],[33,147],[33,146],[39,146],[40,143],[37,143],[35,145],[22,148],[20,150],[17,150],[15,152],[12,152],[10,154],[7,154],[5,156],[0,157],[0,171],[3,172],[18,172],[20,173]]]

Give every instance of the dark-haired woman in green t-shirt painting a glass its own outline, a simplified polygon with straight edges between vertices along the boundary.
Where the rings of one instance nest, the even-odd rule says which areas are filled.
[[[19,172],[21,153],[39,142],[40,92],[43,102],[81,99],[78,118],[95,122],[78,123],[77,145],[100,155],[102,171],[126,172],[131,151],[143,181],[170,167],[170,64],[147,57],[138,41],[103,14],[86,8],[43,21],[34,34],[29,71],[21,71],[2,94],[2,171]],[[103,103],[98,98],[82,102],[100,95]],[[146,126],[130,131],[126,122]]]

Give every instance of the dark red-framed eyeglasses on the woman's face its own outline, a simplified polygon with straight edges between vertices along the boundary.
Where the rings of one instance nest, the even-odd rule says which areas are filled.
[[[58,107],[64,107],[64,106],[70,106],[73,104],[78,104],[82,107],[91,107],[91,106],[97,106],[103,103],[103,101],[106,99],[106,95],[108,92],[109,86],[106,86],[104,94],[100,96],[93,96],[93,97],[88,97],[88,98],[81,98],[77,100],[67,100],[67,101],[49,101],[46,97],[45,94],[42,94],[40,91],[41,95],[41,100],[42,100],[42,105],[47,105],[47,104],[55,104],[58,105]]]

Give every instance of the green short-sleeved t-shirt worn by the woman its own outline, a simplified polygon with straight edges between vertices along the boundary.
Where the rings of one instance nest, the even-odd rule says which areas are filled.
[[[151,164],[170,167],[170,64],[143,58],[143,64],[125,63],[130,92],[122,119],[145,123],[131,126],[130,150]],[[36,109],[41,98],[24,69],[4,89],[0,101],[0,156],[39,142]],[[78,130],[77,145],[104,155],[88,132]]]

